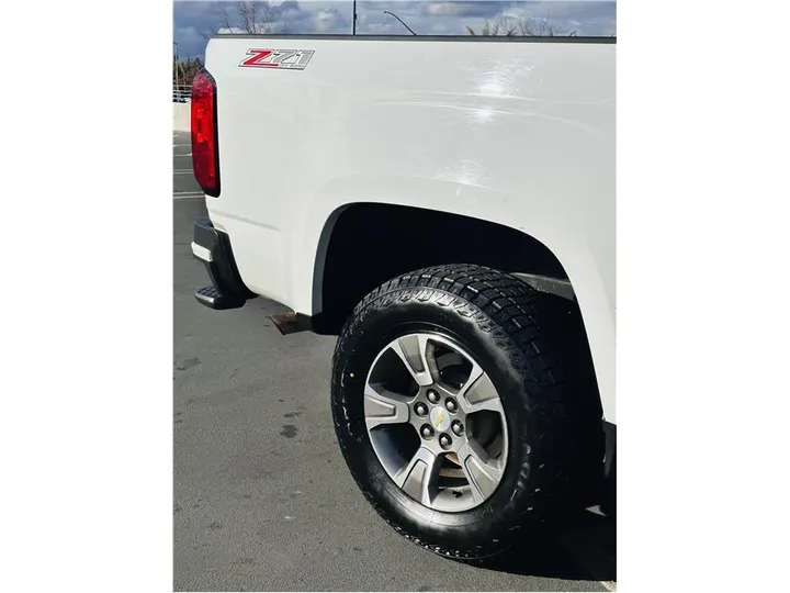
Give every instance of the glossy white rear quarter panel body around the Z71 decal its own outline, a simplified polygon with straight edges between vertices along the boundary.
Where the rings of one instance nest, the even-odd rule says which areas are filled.
[[[315,54],[304,70],[239,67],[259,48]],[[210,215],[245,282],[305,314],[321,306],[321,235],[348,204],[453,212],[533,236],[573,283],[614,422],[614,51],[213,40],[222,194],[206,199]]]

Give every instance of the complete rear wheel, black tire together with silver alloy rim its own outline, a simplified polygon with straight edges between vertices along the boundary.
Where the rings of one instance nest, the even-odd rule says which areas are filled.
[[[373,291],[332,369],[338,440],[364,495],[444,556],[484,558],[533,534],[600,461],[583,338],[576,305],[479,266]]]

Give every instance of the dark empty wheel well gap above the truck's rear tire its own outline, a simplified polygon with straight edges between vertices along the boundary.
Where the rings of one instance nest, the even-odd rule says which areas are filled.
[[[318,262],[320,264],[320,262]],[[338,334],[365,294],[407,271],[478,264],[567,280],[549,248],[515,228],[469,216],[391,204],[353,204],[329,236],[314,331]]]

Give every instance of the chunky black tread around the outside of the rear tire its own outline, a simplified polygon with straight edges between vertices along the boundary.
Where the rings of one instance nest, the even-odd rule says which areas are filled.
[[[508,355],[510,363],[524,377],[524,380],[531,382],[526,384],[526,389],[538,395],[532,400],[532,412],[541,427],[540,434],[533,435],[534,446],[540,447],[541,457],[551,458],[552,463],[532,466],[528,472],[534,472],[535,475],[530,473],[529,481],[526,479],[527,475],[519,481],[522,488],[527,488],[528,482],[545,485],[541,485],[530,494],[532,503],[523,506],[520,521],[517,521],[509,532],[540,525],[550,519],[554,512],[562,512],[566,507],[566,501],[561,497],[573,485],[574,454],[578,450],[579,439],[589,437],[585,430],[579,430],[579,427],[585,425],[585,419],[588,419],[586,415],[591,411],[599,413],[599,407],[595,410],[595,403],[574,405],[579,403],[574,398],[574,388],[582,379],[577,378],[578,380],[575,381],[564,371],[563,367],[567,368],[568,365],[561,365],[557,357],[569,353],[557,351],[555,344],[557,340],[551,339],[551,332],[543,327],[558,324],[560,327],[566,326],[578,331],[572,327],[573,323],[567,323],[568,320],[562,318],[563,315],[572,316],[567,314],[567,309],[557,306],[556,301],[553,300],[556,298],[549,298],[518,278],[499,270],[470,264],[431,266],[385,282],[362,299],[338,339],[332,360],[335,368],[338,358],[342,356],[343,344],[349,335],[359,329],[366,313],[372,307],[386,307],[395,299],[400,302],[433,301],[461,316],[473,318],[481,329],[494,337],[497,346]],[[586,338],[584,346],[587,347]],[[334,381],[337,380],[334,374]],[[332,387],[335,389],[337,385]],[[597,406],[600,406],[599,401]],[[337,425],[342,418],[336,417],[335,422]],[[352,455],[342,440],[340,446],[343,455]],[[433,552],[456,559],[479,559],[505,551],[514,542],[510,540],[503,546],[492,545],[489,548],[462,550],[422,541],[405,532],[394,517],[376,503],[353,470],[351,473],[364,496],[384,521],[405,538]],[[515,497],[516,493],[511,500]]]

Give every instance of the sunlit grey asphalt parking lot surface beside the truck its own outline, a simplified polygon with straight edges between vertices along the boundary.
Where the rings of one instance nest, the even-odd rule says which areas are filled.
[[[613,589],[614,526],[594,513],[494,569],[422,550],[376,515],[335,439],[335,338],[282,336],[269,316],[285,309],[262,298],[233,311],[195,301],[208,280],[192,223],[206,210],[179,174],[188,138],[173,133],[174,590]]]

